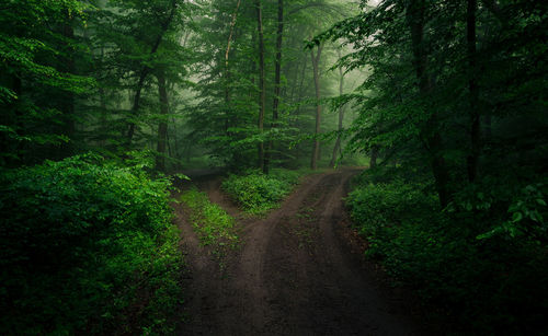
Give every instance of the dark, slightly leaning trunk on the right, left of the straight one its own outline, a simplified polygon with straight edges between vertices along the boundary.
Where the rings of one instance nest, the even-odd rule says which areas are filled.
[[[413,51],[413,66],[419,80],[419,91],[423,100],[426,100],[431,91],[431,82],[426,72],[426,50],[424,46],[424,20],[425,0],[411,0],[407,8],[407,20],[411,31]],[[421,132],[425,139],[427,150],[431,154],[431,167],[434,174],[439,204],[443,208],[449,202],[448,182],[449,174],[442,154],[442,136],[439,134],[439,121],[434,111],[425,111],[430,114],[429,119]]]

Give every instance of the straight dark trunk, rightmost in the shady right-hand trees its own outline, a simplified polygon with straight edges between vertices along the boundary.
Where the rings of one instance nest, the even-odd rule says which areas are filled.
[[[468,49],[468,90],[470,100],[470,144],[471,151],[467,158],[468,181],[475,182],[478,177],[479,155],[481,151],[481,125],[478,106],[479,88],[476,81],[477,76],[477,53],[476,53],[476,11],[477,0],[468,0],[466,18],[466,39]]]

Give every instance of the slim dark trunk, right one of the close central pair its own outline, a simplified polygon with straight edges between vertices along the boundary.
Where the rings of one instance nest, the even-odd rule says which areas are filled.
[[[277,31],[276,31],[276,61],[275,61],[275,76],[274,76],[274,101],[272,103],[272,125],[271,128],[277,127],[279,94],[282,82],[282,44],[284,38],[284,0],[277,0]],[[270,159],[274,143],[269,141],[269,147],[264,157],[264,171],[269,173]]]

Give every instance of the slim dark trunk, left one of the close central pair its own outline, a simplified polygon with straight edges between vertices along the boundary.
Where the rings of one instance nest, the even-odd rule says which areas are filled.
[[[256,32],[259,37],[259,134],[262,136],[264,129],[264,107],[266,92],[264,91],[264,37],[263,37],[263,13],[261,0],[255,0],[256,7]],[[259,167],[264,170],[264,143],[259,142]]]

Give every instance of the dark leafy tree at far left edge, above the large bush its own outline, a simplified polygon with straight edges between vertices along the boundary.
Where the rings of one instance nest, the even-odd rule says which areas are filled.
[[[93,85],[90,78],[75,74],[75,58],[85,50],[73,30],[81,27],[87,5],[71,0],[1,7],[0,164],[71,154],[73,100]]]

